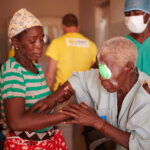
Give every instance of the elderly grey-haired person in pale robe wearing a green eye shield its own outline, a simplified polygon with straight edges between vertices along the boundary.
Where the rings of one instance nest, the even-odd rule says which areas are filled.
[[[63,85],[75,92],[81,103],[62,108],[62,114],[72,117],[66,123],[94,127],[120,150],[148,150],[150,78],[137,70],[136,59],[136,46],[130,40],[115,37],[106,41],[98,54],[99,69],[74,73]],[[34,107],[43,110],[41,104],[45,102]]]

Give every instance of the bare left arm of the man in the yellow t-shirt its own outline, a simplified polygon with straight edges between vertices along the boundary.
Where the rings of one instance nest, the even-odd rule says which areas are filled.
[[[53,89],[53,85],[54,85],[54,82],[55,82],[56,65],[57,65],[56,60],[54,60],[52,58],[49,58],[45,78],[46,78],[47,85],[51,90]]]

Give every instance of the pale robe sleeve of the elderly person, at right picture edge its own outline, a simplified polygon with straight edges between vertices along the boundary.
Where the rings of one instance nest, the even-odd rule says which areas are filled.
[[[130,109],[127,123],[130,150],[150,149],[150,95],[141,88]]]

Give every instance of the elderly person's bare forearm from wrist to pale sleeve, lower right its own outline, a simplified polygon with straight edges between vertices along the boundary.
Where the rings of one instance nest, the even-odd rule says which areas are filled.
[[[124,132],[102,119],[99,119],[97,122],[95,122],[95,125],[93,126],[106,137],[129,149],[130,133]]]

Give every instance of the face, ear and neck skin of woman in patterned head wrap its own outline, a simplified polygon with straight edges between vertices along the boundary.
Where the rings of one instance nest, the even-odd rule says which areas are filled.
[[[44,33],[41,27],[36,26],[26,30],[21,40],[12,38],[15,46],[15,59],[27,70],[37,74],[32,60],[38,60],[42,56]]]

